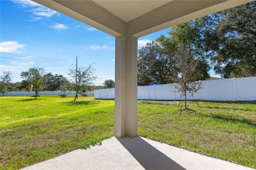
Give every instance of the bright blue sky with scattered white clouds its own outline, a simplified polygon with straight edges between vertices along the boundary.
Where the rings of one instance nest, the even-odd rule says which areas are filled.
[[[9,0],[1,3],[0,71],[13,73],[13,82],[29,67],[62,74],[78,65],[93,64],[101,85],[115,78],[115,38],[69,16],[31,1]],[[168,29],[139,38],[138,47],[166,34]]]

